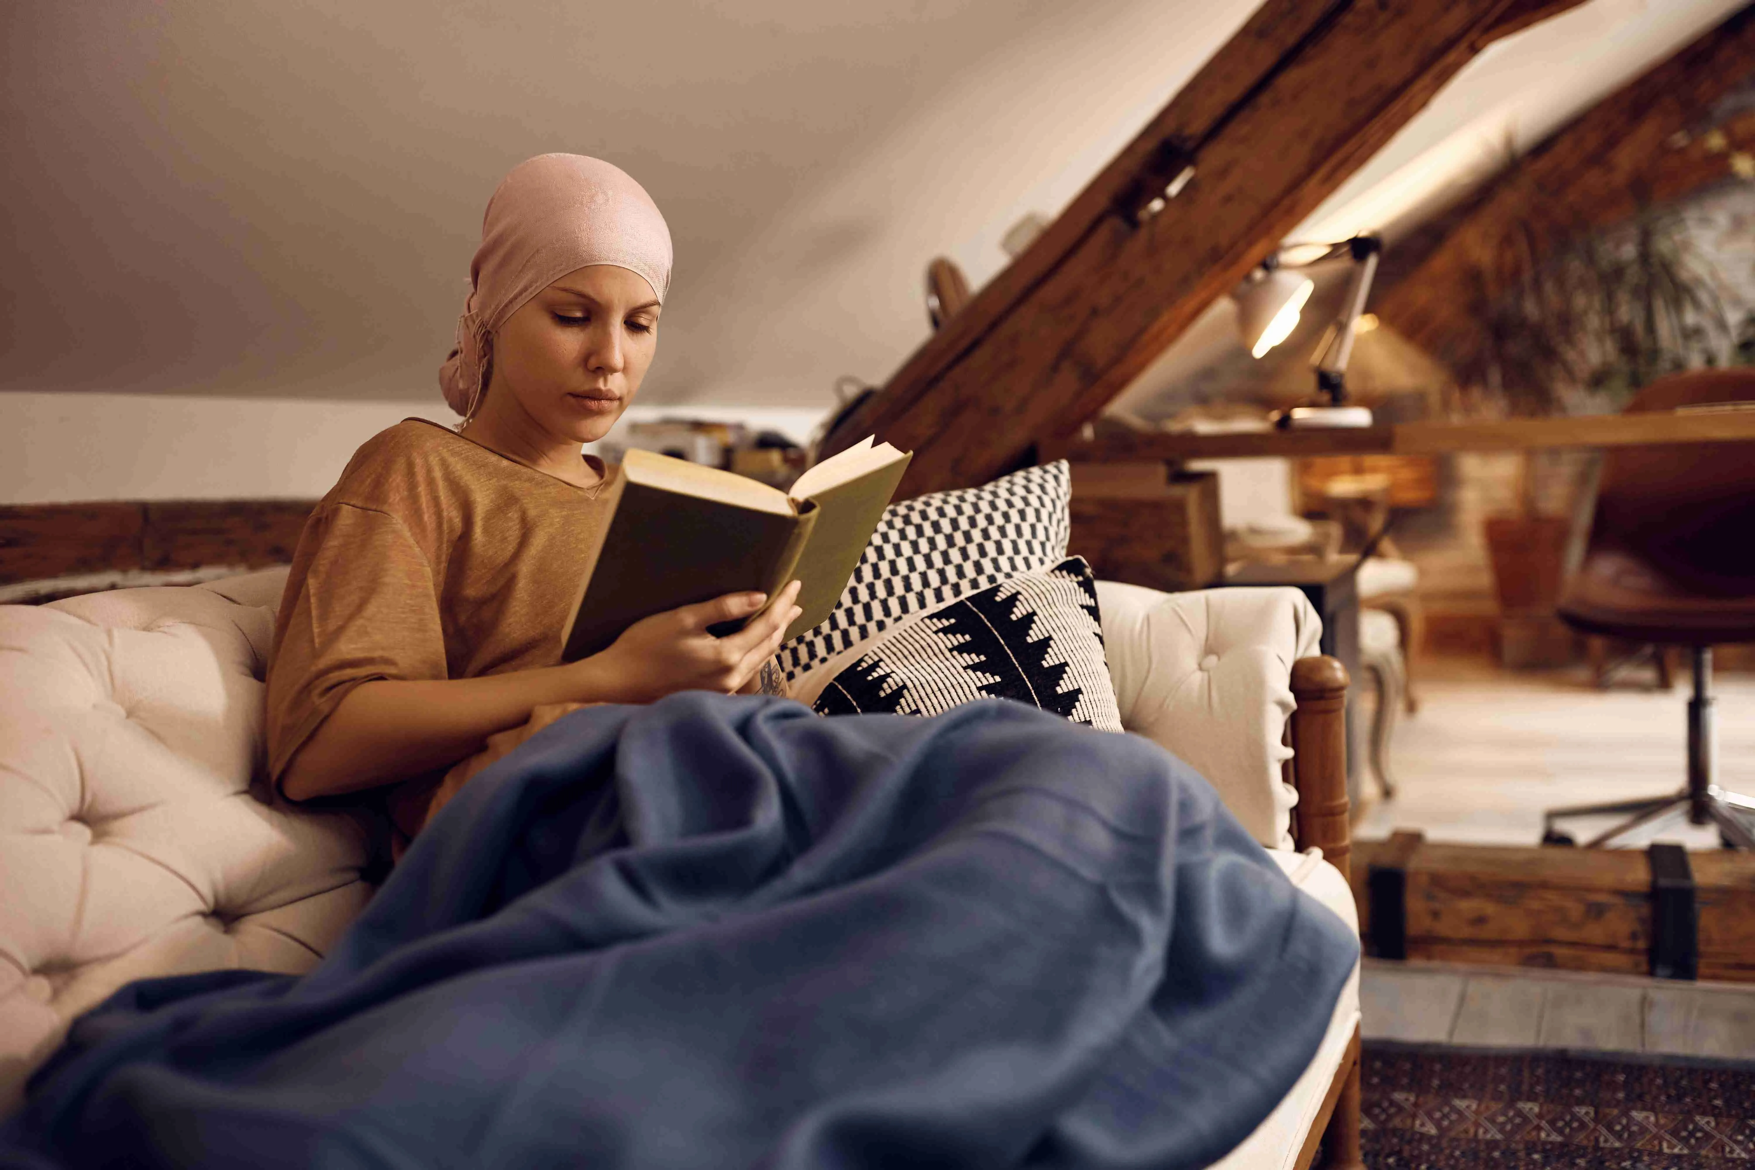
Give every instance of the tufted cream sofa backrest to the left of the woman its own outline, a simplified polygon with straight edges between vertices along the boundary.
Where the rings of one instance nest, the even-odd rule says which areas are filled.
[[[365,905],[367,828],[253,784],[281,581],[0,605],[0,1110],[121,984],[302,972]]]

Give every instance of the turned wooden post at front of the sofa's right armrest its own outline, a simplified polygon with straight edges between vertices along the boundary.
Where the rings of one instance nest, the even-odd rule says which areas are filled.
[[[1327,654],[1292,663],[1288,735],[1292,758],[1286,782],[1299,793],[1292,835],[1299,849],[1322,856],[1348,877],[1353,851],[1351,809],[1346,798],[1346,667]]]

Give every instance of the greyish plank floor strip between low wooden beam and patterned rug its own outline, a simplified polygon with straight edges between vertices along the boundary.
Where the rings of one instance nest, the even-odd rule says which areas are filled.
[[[1755,986],[1365,960],[1365,1040],[1755,1059]]]

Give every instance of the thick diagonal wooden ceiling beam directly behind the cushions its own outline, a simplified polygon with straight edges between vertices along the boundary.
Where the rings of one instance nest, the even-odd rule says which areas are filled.
[[[1093,417],[1474,53],[1565,0],[1267,0],[825,453],[914,451],[899,496],[983,482]],[[1143,223],[1135,209],[1193,163]]]

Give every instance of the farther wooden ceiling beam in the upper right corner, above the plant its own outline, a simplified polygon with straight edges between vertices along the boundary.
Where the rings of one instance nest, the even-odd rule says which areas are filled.
[[[1478,328],[1465,293],[1483,258],[1513,232],[1539,242],[1544,228],[1620,223],[1641,202],[1680,198],[1730,175],[1730,160],[1755,139],[1755,116],[1729,119],[1720,139],[1702,132],[1713,105],[1751,77],[1755,5],[1550,135],[1439,230],[1392,242],[1372,310],[1443,358],[1453,339]]]

